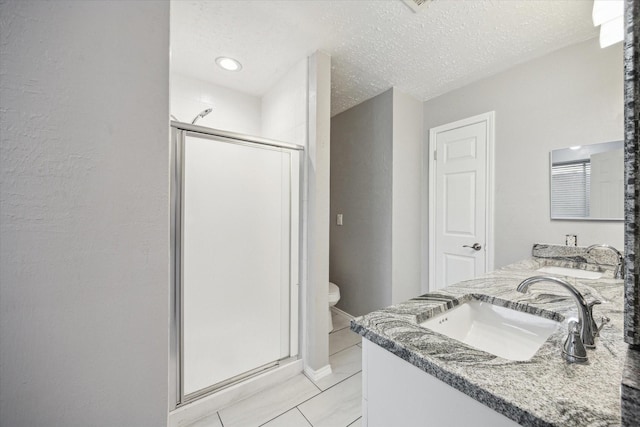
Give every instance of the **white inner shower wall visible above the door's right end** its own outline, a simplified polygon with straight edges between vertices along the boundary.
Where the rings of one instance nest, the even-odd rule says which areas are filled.
[[[307,58],[298,61],[262,96],[260,136],[307,144],[307,62]]]

